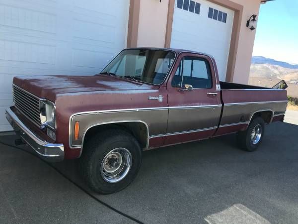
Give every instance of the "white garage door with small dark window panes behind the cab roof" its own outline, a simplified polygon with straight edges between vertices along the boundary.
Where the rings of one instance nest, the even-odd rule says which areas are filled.
[[[225,80],[234,11],[207,0],[176,0],[171,47],[211,54]]]

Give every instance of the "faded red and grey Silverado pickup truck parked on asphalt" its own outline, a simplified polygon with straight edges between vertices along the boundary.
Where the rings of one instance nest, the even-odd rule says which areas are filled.
[[[283,120],[287,92],[220,82],[210,55],[164,48],[121,51],[94,76],[19,76],[6,117],[47,161],[80,158],[102,194],[136,177],[142,150],[237,133],[254,151],[265,123]]]

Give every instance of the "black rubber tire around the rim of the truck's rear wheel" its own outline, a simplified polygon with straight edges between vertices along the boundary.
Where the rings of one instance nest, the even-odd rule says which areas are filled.
[[[261,136],[257,142],[253,143],[252,132],[256,126],[258,126],[261,129],[260,130]],[[255,130],[255,132],[256,132],[256,130]],[[249,123],[249,126],[245,131],[237,132],[238,146],[245,151],[253,152],[253,151],[257,150],[257,148],[262,143],[264,133],[265,133],[265,122],[262,117],[257,116]]]

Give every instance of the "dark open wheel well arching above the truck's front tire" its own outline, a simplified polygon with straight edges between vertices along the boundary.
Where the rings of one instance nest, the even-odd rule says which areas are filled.
[[[140,143],[142,148],[148,147],[149,143],[149,129],[146,123],[141,121],[107,123],[93,126],[85,133],[83,144],[91,138],[94,133],[105,131],[107,129],[122,129],[132,134]]]

